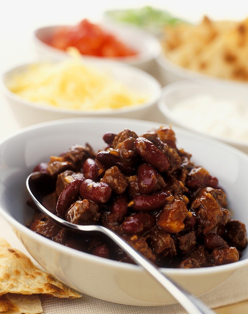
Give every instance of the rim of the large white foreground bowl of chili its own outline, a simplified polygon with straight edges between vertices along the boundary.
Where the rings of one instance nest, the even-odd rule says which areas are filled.
[[[80,122],[83,124],[83,122],[87,120],[88,122],[91,121],[93,122],[97,122],[97,121],[105,121],[106,123],[110,124],[112,121],[115,122],[120,122],[120,123],[124,123],[124,122],[134,122],[136,125],[150,125],[150,127],[159,127],[161,126],[161,123],[158,122],[151,122],[151,121],[143,121],[143,120],[136,120],[136,119],[127,119],[127,118],[111,118],[111,117],[105,117],[105,118],[101,118],[101,117],[80,117],[80,118],[67,118],[67,119],[60,119],[60,120],[54,120],[54,121],[48,121],[48,122],[42,122],[42,123],[38,123],[29,127],[25,127],[22,128],[19,131],[13,132],[12,134],[10,134],[9,136],[3,138],[0,141],[0,147],[4,144],[7,143],[8,140],[10,140],[11,138],[18,136],[19,134],[24,134],[24,133],[29,133],[32,132],[33,130],[36,129],[42,129],[42,128],[46,128],[46,127],[50,127],[50,126],[54,126],[54,125],[62,125],[62,124],[72,124],[74,122]],[[245,160],[247,160],[248,163],[248,155],[241,152],[240,150],[226,144],[226,143],[222,143],[221,141],[218,141],[216,139],[212,139],[209,138],[208,136],[203,136],[203,135],[199,135],[197,133],[194,133],[192,131],[188,131],[188,130],[184,130],[183,128],[180,127],[174,127],[175,131],[180,131],[183,132],[184,134],[188,135],[188,136],[193,136],[196,139],[204,139],[207,142],[210,143],[215,143],[218,144],[218,146],[229,150],[230,152],[232,152],[233,154],[236,154],[238,156],[240,156],[241,158],[245,158]],[[116,267],[116,268],[121,268],[121,269],[126,269],[126,270],[130,270],[130,271],[144,271],[144,269],[141,266],[138,265],[134,265],[134,264],[129,264],[129,263],[123,263],[123,262],[118,262],[115,260],[111,260],[111,259],[107,259],[107,258],[103,258],[103,257],[98,257],[98,256],[94,256],[93,254],[89,254],[86,252],[82,252],[82,251],[78,251],[75,250],[73,248],[61,245],[60,243],[57,243],[55,241],[51,241],[50,239],[40,236],[39,234],[35,233],[34,231],[28,229],[26,226],[22,225],[19,221],[17,221],[16,219],[14,219],[10,214],[8,214],[7,212],[5,212],[5,210],[0,207],[0,214],[1,216],[6,219],[8,221],[8,223],[10,225],[13,225],[17,230],[20,230],[21,232],[23,232],[24,234],[27,234],[27,236],[30,236],[31,238],[34,238],[35,240],[37,240],[37,242],[41,242],[44,243],[45,245],[50,246],[51,248],[54,246],[54,249],[57,248],[57,250],[59,250],[60,252],[67,254],[67,255],[71,255],[71,256],[75,256],[78,258],[85,258],[87,260],[95,262],[95,263],[100,263],[103,266],[111,266],[111,267]],[[180,268],[160,268],[160,270],[163,273],[166,274],[171,274],[171,275],[185,275],[185,276],[190,276],[191,274],[208,274],[208,273],[219,273],[219,272],[225,272],[228,270],[236,270],[242,266],[248,265],[248,258],[235,262],[235,263],[230,263],[230,264],[225,264],[225,265],[218,265],[217,267],[205,267],[205,268],[189,268],[189,269],[180,269]]]

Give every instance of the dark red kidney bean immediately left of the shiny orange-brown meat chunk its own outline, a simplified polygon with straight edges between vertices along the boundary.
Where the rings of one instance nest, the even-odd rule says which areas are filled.
[[[122,229],[127,234],[141,233],[149,230],[156,223],[154,216],[148,213],[137,213],[127,217],[122,223]]]

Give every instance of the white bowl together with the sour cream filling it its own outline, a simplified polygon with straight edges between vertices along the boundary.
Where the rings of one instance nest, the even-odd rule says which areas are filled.
[[[165,86],[159,110],[167,123],[218,138],[248,153],[248,90],[180,81]]]

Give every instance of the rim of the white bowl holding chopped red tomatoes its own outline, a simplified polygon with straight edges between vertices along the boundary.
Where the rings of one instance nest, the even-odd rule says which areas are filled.
[[[127,57],[113,57],[113,58],[109,58],[109,57],[97,57],[98,59],[105,59],[105,60],[115,60],[115,61],[120,61],[120,62],[127,62],[127,64],[130,65],[135,65],[135,64],[139,64],[139,63],[146,63],[149,62],[153,59],[155,59],[156,57],[159,56],[159,54],[161,53],[162,47],[161,44],[159,42],[159,40],[152,34],[144,31],[144,30],[140,30],[136,27],[133,26],[129,26],[129,25],[119,25],[119,24],[113,24],[111,22],[107,22],[107,21],[100,21],[99,24],[101,27],[103,28],[116,28],[117,30],[126,30],[129,31],[130,33],[136,33],[137,35],[139,35],[139,37],[142,38],[142,41],[145,42],[150,42],[152,43],[152,46],[154,47],[154,49],[152,50],[151,53],[147,54],[146,51],[137,51],[137,55],[136,56],[127,56]],[[64,27],[64,26],[73,26],[74,24],[67,24],[67,25],[62,25],[62,24],[53,24],[53,25],[47,25],[47,26],[43,26],[43,27],[39,27],[37,29],[34,30],[33,32],[33,41],[36,44],[39,44],[40,46],[42,46],[44,49],[50,50],[53,53],[57,53],[60,54],[61,56],[67,56],[67,52],[63,51],[59,48],[50,46],[49,44],[45,43],[44,41],[42,41],[40,38],[38,38],[38,33],[40,31],[47,31],[49,29],[55,29],[58,27]],[[111,30],[109,30],[111,33]],[[121,39],[121,38],[118,38]],[[127,41],[126,41],[127,42]],[[94,56],[89,56],[89,55],[83,55],[81,54],[82,57],[94,57]]]

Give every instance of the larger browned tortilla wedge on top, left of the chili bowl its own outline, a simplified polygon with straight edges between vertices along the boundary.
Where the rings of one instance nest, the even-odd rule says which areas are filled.
[[[0,240],[0,295],[5,293],[48,294],[58,298],[80,298],[48,273],[37,268],[24,253]]]

